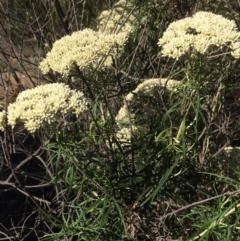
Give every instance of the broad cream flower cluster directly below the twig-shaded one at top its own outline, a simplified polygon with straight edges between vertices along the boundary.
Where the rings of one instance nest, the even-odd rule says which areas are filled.
[[[68,76],[75,66],[80,69],[99,63],[109,66],[112,63],[110,56],[116,56],[126,40],[125,32],[106,34],[91,29],[74,32],[57,40],[39,67],[44,74],[52,69]]]

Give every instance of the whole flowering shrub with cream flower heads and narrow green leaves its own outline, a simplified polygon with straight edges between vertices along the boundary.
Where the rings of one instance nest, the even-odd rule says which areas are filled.
[[[77,75],[79,82],[70,83],[71,88],[52,83],[22,91],[0,112],[6,137],[20,124],[49,141],[42,142],[47,150],[43,161],[29,152],[47,171],[41,172],[39,187],[54,187],[44,200],[35,200],[47,200],[49,205],[38,206],[50,211],[47,218],[53,214],[49,220],[60,232],[49,239],[41,232],[48,240],[156,241],[172,233],[169,240],[187,240],[192,234],[196,238],[191,240],[203,240],[217,225],[228,233],[231,222],[236,222],[231,230],[239,228],[239,201],[225,194],[239,190],[239,174],[231,186],[228,164],[235,134],[231,128],[239,134],[239,65],[234,64],[240,58],[240,32],[234,21],[202,11],[172,22],[163,32],[173,19],[166,13],[168,6],[171,11],[168,2],[177,1],[159,1],[164,11],[156,2],[120,0],[99,15],[95,29],[57,40],[40,70],[60,74],[61,81]],[[210,58],[212,53],[217,57]],[[224,150],[226,161],[219,155]],[[13,168],[15,176],[23,173],[21,180],[26,179],[22,166]],[[214,175],[209,178],[208,172]],[[15,182],[10,188],[18,187]],[[214,195],[217,202],[201,203]]]

